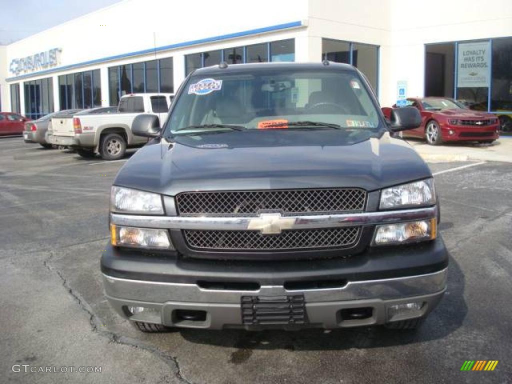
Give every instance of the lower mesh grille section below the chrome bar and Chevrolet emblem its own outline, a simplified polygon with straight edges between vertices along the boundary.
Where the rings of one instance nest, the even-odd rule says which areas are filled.
[[[286,249],[346,248],[359,239],[360,227],[293,229],[280,234],[252,230],[184,230],[193,249],[211,251],[271,251]]]

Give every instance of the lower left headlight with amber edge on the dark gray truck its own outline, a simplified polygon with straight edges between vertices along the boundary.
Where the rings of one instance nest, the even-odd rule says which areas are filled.
[[[110,235],[114,246],[174,249],[165,229],[123,227],[111,224]]]

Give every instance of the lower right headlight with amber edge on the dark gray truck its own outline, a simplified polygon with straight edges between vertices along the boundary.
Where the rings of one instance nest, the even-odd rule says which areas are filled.
[[[434,240],[437,219],[409,221],[406,223],[379,225],[375,230],[374,245],[394,245]]]

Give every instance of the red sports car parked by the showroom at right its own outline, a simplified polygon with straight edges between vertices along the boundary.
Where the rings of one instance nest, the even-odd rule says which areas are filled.
[[[423,97],[408,98],[408,105],[415,106],[421,114],[421,125],[403,131],[404,137],[421,137],[431,145],[443,141],[478,141],[492,143],[499,138],[500,122],[487,112],[461,108],[449,98]],[[396,108],[396,105],[393,105]],[[389,119],[392,108],[382,108]]]

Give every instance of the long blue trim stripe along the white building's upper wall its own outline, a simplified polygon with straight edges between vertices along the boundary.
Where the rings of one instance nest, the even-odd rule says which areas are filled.
[[[225,35],[207,37],[207,38],[198,39],[198,40],[178,42],[177,44],[170,44],[170,45],[162,46],[162,47],[149,48],[149,49],[144,49],[141,51],[135,51],[135,52],[123,53],[120,55],[102,57],[99,59],[83,61],[83,62],[79,62],[76,64],[70,64],[68,66],[56,67],[56,68],[47,69],[44,71],[28,73],[26,75],[9,77],[6,79],[6,81],[15,81],[15,80],[20,80],[20,79],[26,79],[29,77],[40,76],[40,75],[45,75],[45,74],[59,72],[59,71],[65,71],[65,70],[69,70],[69,69],[73,69],[73,68],[89,66],[92,64],[98,64],[98,63],[102,63],[105,61],[123,59],[123,58],[127,58],[127,57],[132,57],[132,56],[140,56],[140,55],[145,55],[148,53],[155,53],[155,52],[166,51],[166,50],[176,49],[176,48],[185,48],[185,47],[195,46],[195,45],[199,45],[199,44],[205,44],[207,42],[214,42],[214,41],[219,41],[219,40],[232,39],[232,38],[236,38],[236,37],[256,35],[259,33],[274,32],[274,31],[279,31],[282,29],[301,27],[302,25],[303,25],[302,22],[298,21],[298,22],[291,22],[291,23],[285,23],[285,24],[278,24],[278,25],[274,25],[274,26],[270,26],[270,27],[250,29],[250,30],[242,31],[242,32],[228,33]]]

